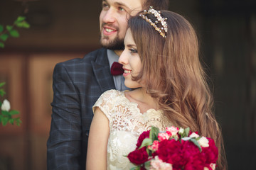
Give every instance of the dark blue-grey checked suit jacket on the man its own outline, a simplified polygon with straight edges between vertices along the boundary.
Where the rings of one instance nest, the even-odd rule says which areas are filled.
[[[48,169],[85,169],[92,106],[109,89],[115,87],[105,48],[56,64]]]

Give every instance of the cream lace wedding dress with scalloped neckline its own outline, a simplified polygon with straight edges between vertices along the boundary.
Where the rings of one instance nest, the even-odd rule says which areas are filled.
[[[124,91],[106,91],[93,106],[99,107],[110,121],[110,136],[107,143],[107,169],[130,169],[134,165],[124,157],[136,148],[142,132],[155,126],[165,130],[170,126],[163,111],[149,109],[140,113],[137,103],[130,102]]]

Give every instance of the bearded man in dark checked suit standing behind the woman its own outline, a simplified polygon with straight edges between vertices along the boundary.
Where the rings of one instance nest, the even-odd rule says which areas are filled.
[[[149,6],[168,8],[168,0],[103,0],[100,13],[102,48],[82,59],[56,64],[53,114],[47,142],[49,170],[85,169],[92,106],[109,89],[127,89],[122,75],[110,73],[112,63],[117,62],[124,49],[127,16]]]

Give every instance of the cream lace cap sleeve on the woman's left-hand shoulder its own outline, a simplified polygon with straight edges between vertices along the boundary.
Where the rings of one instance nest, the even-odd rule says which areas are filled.
[[[92,111],[95,113],[96,108],[100,108],[100,110],[107,116],[107,119],[111,122],[110,111],[114,106],[113,99],[118,95],[117,90],[109,90],[105,91],[100,98],[97,99],[94,106],[92,106]]]

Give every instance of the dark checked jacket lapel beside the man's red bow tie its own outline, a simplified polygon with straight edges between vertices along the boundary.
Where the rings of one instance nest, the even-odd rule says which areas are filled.
[[[114,79],[112,74],[110,74],[110,64],[107,60],[107,50],[100,50],[97,53],[95,62],[92,61],[91,63],[95,78],[100,85],[102,93],[110,89],[115,89]]]

